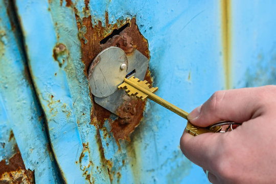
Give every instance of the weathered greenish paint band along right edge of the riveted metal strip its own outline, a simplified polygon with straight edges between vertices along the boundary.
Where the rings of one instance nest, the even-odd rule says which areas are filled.
[[[59,1],[53,1],[50,3],[50,8],[52,19],[55,23],[57,42],[63,43],[69,53],[64,71],[73,101],[81,142],[88,147],[88,149],[83,151],[84,157],[78,166],[83,172],[87,171],[85,175],[91,182],[108,183],[108,171],[103,165],[99,144],[97,144],[97,141],[99,141],[97,130],[93,125],[94,122],[90,120],[93,104],[89,96],[88,80],[84,74],[84,64],[81,60],[81,45],[75,14],[73,7],[66,7],[65,5],[65,1],[62,6],[60,6]],[[60,157],[60,159],[63,158]],[[84,166],[86,167],[84,168]]]

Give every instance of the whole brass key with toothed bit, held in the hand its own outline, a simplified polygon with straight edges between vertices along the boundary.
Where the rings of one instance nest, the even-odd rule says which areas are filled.
[[[150,84],[146,80],[141,81],[140,79],[134,78],[132,76],[129,79],[125,78],[124,82],[121,85],[119,85],[118,88],[125,89],[128,96],[135,96],[141,99],[142,101],[144,101],[147,98],[150,98],[154,102],[166,107],[167,109],[173,111],[174,113],[177,113],[182,118],[185,118],[186,120],[188,120],[188,114],[189,114],[188,112],[176,107],[175,105],[153,94],[158,89],[158,87],[150,87]],[[194,126],[189,122],[189,120],[187,123],[187,127],[185,129],[185,131],[189,132],[194,136],[199,135],[201,133],[206,133],[206,132],[218,132],[220,130],[221,130],[221,126],[216,126],[212,128],[209,128],[209,127],[202,128],[202,127]]]

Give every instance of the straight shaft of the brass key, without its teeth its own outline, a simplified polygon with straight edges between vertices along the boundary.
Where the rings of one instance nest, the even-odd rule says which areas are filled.
[[[186,120],[188,120],[188,112],[178,108],[177,106],[171,104],[170,102],[158,97],[157,95],[151,93],[151,91],[135,84],[134,82],[130,81],[129,79],[125,78],[124,82],[126,82],[127,84],[131,85],[132,87],[136,88],[137,90],[140,90],[142,93],[146,94],[148,96],[148,98],[150,98],[151,100],[153,100],[154,102],[162,105],[163,107],[173,111],[174,113],[178,114],[179,116],[181,116],[182,118],[185,118]]]

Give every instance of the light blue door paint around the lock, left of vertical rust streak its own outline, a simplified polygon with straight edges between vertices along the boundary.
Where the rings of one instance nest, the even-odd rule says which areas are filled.
[[[81,12],[84,4],[76,4]],[[106,11],[109,24],[136,16],[149,42],[150,70],[160,97],[189,111],[223,88],[217,2],[90,1],[88,7],[94,25],[99,20],[105,25]],[[186,120],[164,107],[148,102],[144,120],[132,133],[131,143],[120,141],[120,148],[109,123],[105,122],[105,126],[101,137],[105,157],[113,163],[113,183],[184,183],[189,175],[195,175],[189,172],[192,165],[179,149]],[[204,177],[195,181],[202,180],[206,181]]]

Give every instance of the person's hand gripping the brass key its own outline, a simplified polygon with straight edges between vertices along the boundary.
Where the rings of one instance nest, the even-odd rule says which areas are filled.
[[[212,183],[276,182],[276,86],[217,91],[188,116],[196,126],[242,123],[226,133],[183,132],[180,148]]]

